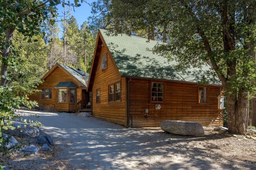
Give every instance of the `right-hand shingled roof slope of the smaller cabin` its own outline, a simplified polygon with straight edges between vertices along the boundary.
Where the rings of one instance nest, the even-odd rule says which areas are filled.
[[[89,74],[85,73],[82,69],[74,69],[69,66],[65,66],[63,64],[59,64],[63,68],[65,68],[67,71],[69,71],[70,74],[72,74],[76,79],[78,79],[84,87],[87,87],[88,79],[89,79]]]

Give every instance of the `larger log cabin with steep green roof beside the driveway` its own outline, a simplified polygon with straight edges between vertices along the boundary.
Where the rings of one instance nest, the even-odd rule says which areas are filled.
[[[223,126],[219,80],[201,85],[210,69],[178,70],[175,61],[152,53],[157,41],[134,36],[108,36],[100,29],[87,91],[92,115],[126,127],[160,126],[165,120]]]

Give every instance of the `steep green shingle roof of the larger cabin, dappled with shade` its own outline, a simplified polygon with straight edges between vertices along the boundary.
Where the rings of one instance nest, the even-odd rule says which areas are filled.
[[[113,59],[123,77],[143,77],[148,79],[166,79],[186,82],[198,82],[210,66],[202,68],[187,68],[182,71],[174,68],[178,63],[167,61],[160,55],[153,54],[148,49],[154,48],[157,41],[146,38],[119,34],[108,36],[107,31],[100,29]],[[210,84],[221,84],[210,82]]]

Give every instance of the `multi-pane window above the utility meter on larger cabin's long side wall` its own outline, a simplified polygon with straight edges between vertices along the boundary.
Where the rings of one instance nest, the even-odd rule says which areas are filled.
[[[151,84],[151,101],[162,102],[163,101],[163,83]]]

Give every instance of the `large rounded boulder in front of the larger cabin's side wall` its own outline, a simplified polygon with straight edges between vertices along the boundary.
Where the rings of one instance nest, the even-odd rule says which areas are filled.
[[[204,128],[197,122],[164,121],[160,127],[174,135],[204,136]]]

